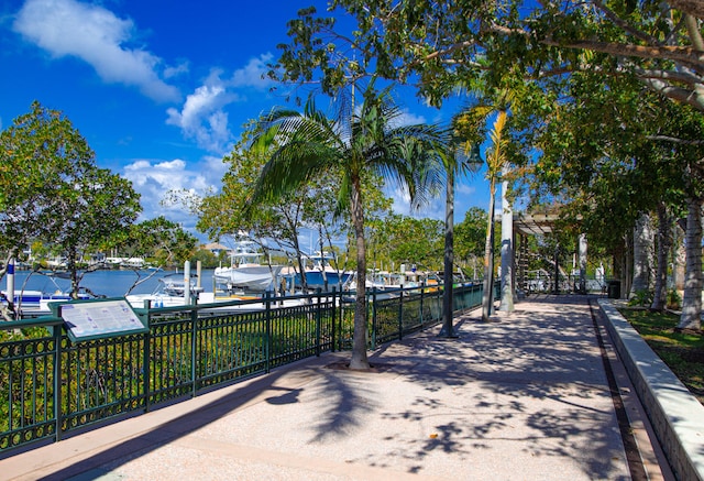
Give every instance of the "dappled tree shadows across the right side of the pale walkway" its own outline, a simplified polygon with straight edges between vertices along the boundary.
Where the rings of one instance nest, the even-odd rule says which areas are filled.
[[[378,393],[374,404],[374,393],[364,390],[373,391],[371,376],[377,374],[354,384],[337,375],[320,387],[337,394],[320,418],[316,440],[342,433],[345,425],[360,428],[360,423],[380,422],[393,434],[388,442],[380,441],[377,451],[361,455],[370,466],[391,463],[420,472],[429,458],[471,462],[518,448],[518,464],[521,459],[563,458],[587,479],[627,478],[586,298],[553,299],[518,304],[516,313],[503,314],[495,323],[465,316],[458,323],[455,340],[422,332],[383,346],[371,360],[403,378],[388,389],[399,383],[415,386],[405,405],[391,409]],[[381,411],[375,419],[361,419],[376,408]],[[410,426],[395,429],[394,423]]]

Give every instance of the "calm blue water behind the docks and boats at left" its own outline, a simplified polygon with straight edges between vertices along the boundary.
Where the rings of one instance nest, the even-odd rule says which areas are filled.
[[[200,274],[200,285],[207,291],[212,292],[212,270],[202,270]],[[103,295],[107,297],[122,297],[128,293],[128,289],[138,278],[145,280],[153,274],[153,271],[96,271],[88,273],[80,282],[81,287],[88,287],[97,295]],[[175,280],[183,281],[184,273],[179,270],[175,271],[157,271],[152,277],[144,283],[138,285],[132,289],[131,294],[151,294],[157,289],[162,277],[172,276]],[[70,289],[70,281],[66,278],[50,277],[48,275],[42,275],[34,273],[29,275],[26,271],[18,271],[15,273],[14,288],[20,291],[22,288],[26,291],[42,291],[45,293],[53,293],[57,289],[68,292]],[[29,277],[29,278],[28,278]],[[190,277],[194,282],[197,282],[196,270],[191,270]],[[24,281],[26,280],[26,284]],[[0,289],[7,288],[6,280],[3,278]]]

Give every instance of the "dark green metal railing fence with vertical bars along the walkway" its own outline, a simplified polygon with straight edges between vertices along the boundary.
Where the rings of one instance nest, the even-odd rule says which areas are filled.
[[[135,309],[147,334],[81,342],[72,342],[56,317],[0,323],[10,338],[0,343],[0,457],[323,351],[350,349],[354,305],[345,295]],[[453,298],[455,311],[476,307],[482,286],[455,286]],[[441,321],[442,287],[374,292],[367,306],[375,349]]]

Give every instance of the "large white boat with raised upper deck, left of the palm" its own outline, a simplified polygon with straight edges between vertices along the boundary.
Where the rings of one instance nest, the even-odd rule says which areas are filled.
[[[261,252],[254,250],[254,242],[240,241],[230,254],[230,267],[216,267],[213,277],[217,283],[224,284],[228,289],[238,288],[263,292],[276,285],[275,281],[283,265],[266,265],[261,263]]]

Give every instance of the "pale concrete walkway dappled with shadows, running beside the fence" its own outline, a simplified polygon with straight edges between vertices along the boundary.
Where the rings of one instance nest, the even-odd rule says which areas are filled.
[[[631,479],[586,297],[455,320],[458,339],[438,328],[384,346],[373,372],[324,354],[2,459],[0,478]],[[644,479],[670,479],[606,347]]]

